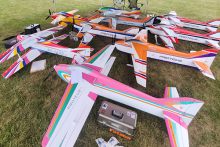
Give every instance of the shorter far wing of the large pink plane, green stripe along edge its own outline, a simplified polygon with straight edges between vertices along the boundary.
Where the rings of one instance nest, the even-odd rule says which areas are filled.
[[[97,72],[101,72],[105,67],[106,63],[109,62],[110,65],[114,63],[112,62],[109,57],[112,54],[113,50],[115,48],[115,45],[107,45],[103,49],[101,49],[99,52],[94,54],[92,57],[90,57],[88,60],[86,60],[82,65],[90,67]],[[107,65],[109,66],[109,65]],[[104,70],[103,70],[104,72]]]

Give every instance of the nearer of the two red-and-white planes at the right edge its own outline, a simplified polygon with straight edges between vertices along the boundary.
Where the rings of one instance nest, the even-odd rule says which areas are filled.
[[[218,44],[220,40],[220,31],[211,32],[208,34],[198,34],[177,28],[174,25],[170,25],[167,19],[163,19],[161,24],[155,26],[151,25],[150,27],[146,27],[146,29],[152,34],[159,35],[166,47],[170,49],[174,49],[172,42],[179,43],[178,39],[180,39],[204,44],[220,50],[220,46]]]

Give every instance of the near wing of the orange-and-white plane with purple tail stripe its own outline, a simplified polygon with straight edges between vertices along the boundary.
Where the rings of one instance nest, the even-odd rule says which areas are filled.
[[[132,61],[137,83],[146,87],[147,79],[147,49],[143,44],[132,42],[135,52],[132,53]]]

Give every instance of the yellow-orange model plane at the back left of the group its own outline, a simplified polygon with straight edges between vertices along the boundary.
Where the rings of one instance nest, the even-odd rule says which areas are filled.
[[[75,23],[80,23],[80,22],[91,21],[93,19],[99,18],[98,14],[94,15],[90,18],[83,18],[83,17],[80,17],[80,15],[73,15],[77,11],[78,10],[72,10],[69,12],[51,13],[49,10],[50,15],[46,19],[51,17],[53,19],[51,24],[54,24],[54,25],[59,24],[59,25],[67,26],[68,24],[73,23],[73,19],[74,19]]]

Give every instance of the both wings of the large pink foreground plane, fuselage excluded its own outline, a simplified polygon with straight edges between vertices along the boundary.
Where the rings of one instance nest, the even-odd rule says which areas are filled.
[[[82,65],[90,68],[96,66],[105,69],[105,65],[111,66],[109,59],[114,45],[108,45]],[[95,68],[96,69],[96,68]],[[104,71],[106,73],[106,71]],[[75,76],[71,73],[71,79]],[[82,82],[72,84],[71,80],[63,95],[62,100],[53,116],[53,119],[43,138],[43,147],[73,146],[89,115],[89,112],[97,98],[97,94],[91,92],[96,78],[82,74]],[[73,80],[74,81],[74,80]]]

